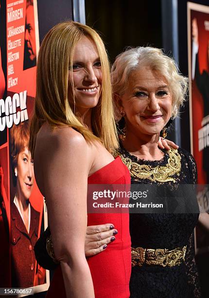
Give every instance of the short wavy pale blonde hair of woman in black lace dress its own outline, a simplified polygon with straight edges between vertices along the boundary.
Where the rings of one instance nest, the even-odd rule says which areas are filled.
[[[179,74],[173,58],[166,56],[162,50],[153,47],[129,48],[116,57],[112,65],[113,93],[122,96],[127,88],[127,81],[132,71],[148,66],[165,77],[172,93],[172,118],[177,115],[179,107],[185,101],[188,90],[188,78]],[[120,118],[116,108],[116,118]]]

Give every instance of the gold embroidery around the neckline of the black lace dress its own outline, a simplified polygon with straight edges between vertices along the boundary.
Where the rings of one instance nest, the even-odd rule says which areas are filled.
[[[139,179],[149,179],[157,182],[176,182],[172,176],[179,175],[181,170],[181,156],[177,149],[170,149],[168,152],[168,163],[165,166],[151,167],[139,165],[130,158],[124,157],[118,150],[114,150],[113,156],[120,155],[122,162],[127,166],[130,175]]]

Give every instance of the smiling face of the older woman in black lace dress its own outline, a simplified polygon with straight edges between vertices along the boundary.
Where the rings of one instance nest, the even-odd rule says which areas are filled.
[[[150,67],[133,71],[121,96],[126,130],[155,135],[171,118],[172,95],[165,77]]]

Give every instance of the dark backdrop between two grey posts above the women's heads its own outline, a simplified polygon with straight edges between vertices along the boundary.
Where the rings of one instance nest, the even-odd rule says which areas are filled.
[[[111,63],[127,46],[162,48],[161,1],[86,0],[86,24],[101,33]]]

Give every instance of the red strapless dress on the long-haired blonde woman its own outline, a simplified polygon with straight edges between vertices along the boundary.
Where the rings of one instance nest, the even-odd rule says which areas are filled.
[[[88,184],[130,185],[128,168],[117,157],[88,177]],[[131,239],[128,213],[88,214],[87,225],[113,223],[118,230],[116,240],[100,254],[87,259],[96,298],[128,298],[131,275]],[[65,298],[61,267],[54,272],[47,298]]]

